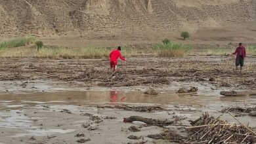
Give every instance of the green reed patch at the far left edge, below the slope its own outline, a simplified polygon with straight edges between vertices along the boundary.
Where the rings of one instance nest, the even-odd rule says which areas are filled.
[[[34,41],[35,41],[35,38],[33,37],[19,37],[19,38],[1,42],[0,49],[26,46],[26,45],[32,44]]]

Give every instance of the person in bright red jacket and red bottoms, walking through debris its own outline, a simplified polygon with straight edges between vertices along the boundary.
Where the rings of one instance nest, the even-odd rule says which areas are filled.
[[[123,56],[121,55],[120,46],[118,46],[116,50],[112,50],[112,52],[110,52],[110,68],[113,69],[113,71],[116,70],[118,58],[125,61],[125,58],[123,58]]]

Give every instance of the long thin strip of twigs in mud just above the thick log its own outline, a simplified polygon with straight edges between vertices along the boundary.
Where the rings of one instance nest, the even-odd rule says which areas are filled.
[[[142,106],[131,106],[131,105],[97,105],[98,109],[124,109],[126,111],[139,111],[139,112],[156,112],[156,111],[164,111],[163,107],[158,105],[142,105]]]

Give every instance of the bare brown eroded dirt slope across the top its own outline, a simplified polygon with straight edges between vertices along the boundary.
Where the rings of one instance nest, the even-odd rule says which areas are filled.
[[[255,0],[0,0],[2,36],[157,35],[240,20],[256,22]]]

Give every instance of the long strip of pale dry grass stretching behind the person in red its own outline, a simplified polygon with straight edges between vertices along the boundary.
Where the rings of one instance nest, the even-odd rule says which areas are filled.
[[[43,46],[39,52],[33,46],[30,48],[5,48],[0,50],[0,57],[20,58],[20,57],[37,57],[50,59],[75,59],[75,58],[108,58],[113,48],[104,46],[89,46],[83,48],[66,48],[57,46]],[[135,56],[138,54],[134,48],[122,48],[123,56]]]

